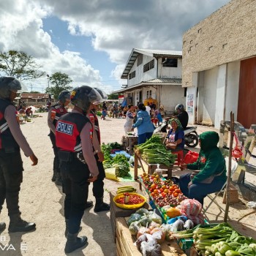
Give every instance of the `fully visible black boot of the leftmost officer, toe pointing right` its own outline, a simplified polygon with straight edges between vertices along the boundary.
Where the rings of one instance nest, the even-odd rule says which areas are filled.
[[[20,218],[20,214],[11,215],[10,216],[10,225],[9,232],[29,232],[31,230],[35,230],[35,223],[26,222],[25,220]]]

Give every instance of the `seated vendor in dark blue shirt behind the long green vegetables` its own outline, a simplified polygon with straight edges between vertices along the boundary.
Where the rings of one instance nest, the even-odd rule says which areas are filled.
[[[172,128],[168,132],[165,146],[175,153],[184,149],[184,131],[178,118],[170,119],[170,125]]]

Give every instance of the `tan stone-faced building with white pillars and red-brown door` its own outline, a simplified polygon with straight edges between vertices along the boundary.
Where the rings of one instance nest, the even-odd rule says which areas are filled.
[[[232,0],[183,36],[182,86],[190,123],[256,124],[256,1]]]

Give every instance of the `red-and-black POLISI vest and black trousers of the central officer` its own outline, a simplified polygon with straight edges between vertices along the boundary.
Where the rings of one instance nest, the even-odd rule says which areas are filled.
[[[75,151],[75,148],[80,148],[80,132],[87,122],[89,118],[86,116],[67,113],[59,118],[56,127],[56,146],[59,148],[61,176],[66,194],[64,216],[68,219],[68,232],[71,234],[78,233],[88,198],[89,167],[80,162],[78,151]],[[69,129],[64,129],[65,125]]]

